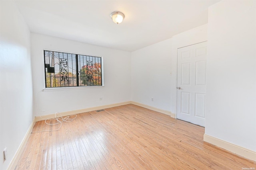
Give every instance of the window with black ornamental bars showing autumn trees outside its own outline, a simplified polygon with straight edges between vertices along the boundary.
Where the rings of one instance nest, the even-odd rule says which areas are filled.
[[[44,51],[46,88],[102,86],[102,57]]]

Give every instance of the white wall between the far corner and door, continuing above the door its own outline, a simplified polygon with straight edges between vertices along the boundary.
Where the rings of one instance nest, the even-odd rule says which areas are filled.
[[[132,52],[132,101],[176,113],[177,49],[203,41],[207,24]]]

